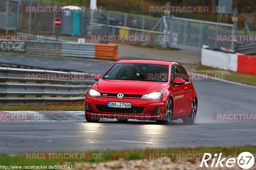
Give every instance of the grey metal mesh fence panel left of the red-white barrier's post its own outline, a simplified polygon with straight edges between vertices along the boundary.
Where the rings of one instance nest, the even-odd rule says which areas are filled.
[[[232,48],[231,42],[215,41],[215,35],[232,35],[233,24],[170,17],[171,48],[201,51],[202,45],[211,48]]]

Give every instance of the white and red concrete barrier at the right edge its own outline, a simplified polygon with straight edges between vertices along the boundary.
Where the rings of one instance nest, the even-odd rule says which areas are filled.
[[[256,74],[256,56],[226,53],[202,48],[201,63],[216,69]]]

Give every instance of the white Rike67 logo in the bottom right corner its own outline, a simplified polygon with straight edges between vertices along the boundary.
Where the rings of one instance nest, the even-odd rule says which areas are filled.
[[[208,167],[208,163],[211,163],[211,161],[212,161],[212,163],[211,163],[210,167],[218,167],[219,165],[220,165],[220,167],[224,167],[223,164],[225,161],[226,161],[226,163],[224,165],[228,168],[235,166],[236,163],[238,164],[238,166],[240,166],[243,169],[249,169],[254,165],[254,156],[250,152],[240,153],[237,157],[237,160],[235,158],[221,159],[221,155],[222,155],[222,153],[220,153],[219,156],[217,153],[215,153],[214,157],[212,159],[211,153],[204,153],[200,167],[203,167],[203,166]],[[217,161],[216,161],[216,159],[217,159]],[[215,161],[216,161],[216,163],[215,163]]]

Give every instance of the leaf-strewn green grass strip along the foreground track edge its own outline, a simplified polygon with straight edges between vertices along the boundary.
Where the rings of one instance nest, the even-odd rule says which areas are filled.
[[[251,152],[253,155],[256,154],[256,147],[252,146],[239,146],[239,147],[206,147],[206,148],[194,148],[194,149],[157,149],[157,150],[134,150],[134,151],[104,151],[104,152],[86,152],[88,155],[101,155],[102,159],[90,159],[91,156],[87,157],[88,159],[77,159],[77,160],[68,160],[68,159],[25,159],[21,154],[17,155],[1,155],[0,156],[0,165],[9,166],[10,163],[13,166],[50,166],[50,165],[66,165],[67,162],[69,165],[74,165],[75,162],[105,162],[111,160],[132,160],[132,159],[149,159],[149,153],[223,153],[228,156],[238,156],[242,152]],[[64,152],[60,152],[64,153]],[[70,153],[70,152],[69,152]],[[78,152],[76,152],[78,153]],[[85,153],[85,152],[83,152]],[[94,156],[94,158],[96,158]],[[173,160],[175,161],[175,160]]]

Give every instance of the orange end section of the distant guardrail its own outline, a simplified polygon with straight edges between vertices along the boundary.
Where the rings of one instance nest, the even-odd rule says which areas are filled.
[[[114,44],[95,44],[95,58],[117,60],[117,45]]]

